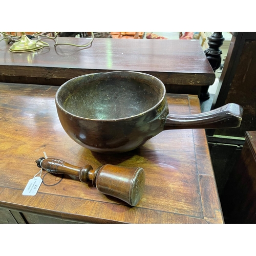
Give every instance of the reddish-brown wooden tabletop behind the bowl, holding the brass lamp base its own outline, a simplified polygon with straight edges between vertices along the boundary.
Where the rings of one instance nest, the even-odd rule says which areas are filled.
[[[199,40],[94,38],[87,48],[57,46],[13,53],[0,42],[0,81],[61,85],[75,76],[108,71],[141,71],[165,84],[209,86],[215,73]],[[90,38],[60,37],[58,42],[85,45]],[[15,80],[16,78],[16,80]]]

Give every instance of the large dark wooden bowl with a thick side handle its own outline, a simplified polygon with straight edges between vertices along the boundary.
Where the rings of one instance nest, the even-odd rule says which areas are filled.
[[[242,108],[229,104],[197,115],[168,111],[164,84],[140,72],[106,72],[73,78],[56,93],[60,123],[95,152],[134,150],[163,130],[238,127]]]

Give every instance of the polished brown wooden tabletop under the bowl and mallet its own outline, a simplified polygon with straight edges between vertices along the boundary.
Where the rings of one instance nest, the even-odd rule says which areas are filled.
[[[92,223],[223,223],[204,130],[163,131],[137,150],[106,155],[74,142],[59,122],[58,87],[0,84],[0,207]],[[200,113],[195,95],[167,94],[174,114]],[[42,172],[35,196],[23,196],[39,171],[35,160],[56,157],[95,169],[110,163],[142,167],[146,183],[137,206],[105,196],[91,184]]]

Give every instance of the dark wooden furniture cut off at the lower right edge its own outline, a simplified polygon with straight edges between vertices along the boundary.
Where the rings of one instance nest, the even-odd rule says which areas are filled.
[[[245,140],[221,197],[226,223],[256,223],[256,132]]]

